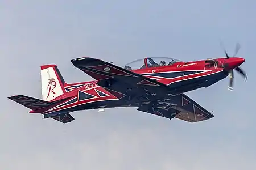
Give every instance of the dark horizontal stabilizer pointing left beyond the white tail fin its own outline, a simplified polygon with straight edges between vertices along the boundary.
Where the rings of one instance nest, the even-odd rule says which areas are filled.
[[[16,95],[8,98],[34,111],[38,109],[46,108],[52,104],[51,102],[48,102],[48,101],[35,99],[33,97],[28,97],[24,95]]]

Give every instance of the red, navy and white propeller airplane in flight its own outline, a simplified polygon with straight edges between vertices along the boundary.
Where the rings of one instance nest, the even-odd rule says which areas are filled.
[[[235,55],[234,55],[235,56]],[[163,118],[201,122],[213,118],[212,112],[201,107],[185,92],[209,87],[230,76],[233,70],[245,80],[240,57],[208,58],[183,62],[171,57],[146,57],[123,67],[92,57],[72,59],[72,64],[95,80],[66,83],[57,65],[42,65],[42,99],[25,95],[8,97],[31,109],[29,113],[66,124],[75,120],[71,112],[116,107],[137,107],[138,111]]]

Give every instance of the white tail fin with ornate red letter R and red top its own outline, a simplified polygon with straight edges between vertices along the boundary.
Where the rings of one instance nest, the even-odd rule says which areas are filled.
[[[65,80],[56,65],[41,66],[42,99],[51,101],[65,93]]]

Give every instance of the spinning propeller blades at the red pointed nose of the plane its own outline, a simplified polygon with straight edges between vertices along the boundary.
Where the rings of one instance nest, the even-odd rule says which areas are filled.
[[[222,47],[223,47],[223,46],[222,46]],[[235,56],[237,55],[237,53],[238,53],[238,51],[240,50],[240,48],[241,48],[240,44],[237,43],[233,57],[235,57]],[[226,59],[229,59],[230,57],[229,57],[228,53],[226,52],[225,49],[224,49],[224,51],[225,51],[225,54],[226,54]],[[233,81],[234,81],[234,72],[233,72],[233,69],[229,69],[228,63],[223,64],[222,67],[223,67],[223,69],[224,69],[225,71],[227,71],[228,74],[229,74],[229,86],[228,86],[228,89],[229,89],[230,91],[233,91]],[[240,67],[236,67],[234,70],[238,71],[238,73],[240,73],[240,74],[243,76],[243,78],[245,79],[245,81],[247,80],[247,74],[246,74],[245,71],[243,71]]]

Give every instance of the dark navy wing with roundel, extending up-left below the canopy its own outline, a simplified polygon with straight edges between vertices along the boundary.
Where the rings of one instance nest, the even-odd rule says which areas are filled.
[[[115,66],[100,59],[84,57],[72,59],[73,65],[84,73],[98,80],[97,84],[106,88],[114,96],[121,99],[129,96],[145,96],[145,94],[158,94],[166,96],[170,88],[165,84],[146,78],[143,75]],[[128,92],[128,91],[129,92]]]

